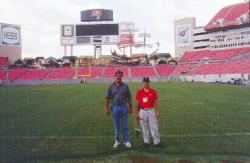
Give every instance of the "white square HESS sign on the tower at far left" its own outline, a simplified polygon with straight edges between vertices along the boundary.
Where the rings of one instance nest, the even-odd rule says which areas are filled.
[[[20,45],[20,28],[11,26],[2,26],[2,44]]]

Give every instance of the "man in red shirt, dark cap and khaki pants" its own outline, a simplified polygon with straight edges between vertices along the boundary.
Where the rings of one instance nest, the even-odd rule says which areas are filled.
[[[139,89],[136,94],[136,119],[140,120],[145,147],[150,143],[149,132],[154,146],[160,146],[158,95],[154,89],[150,88],[149,77],[144,77],[143,82],[144,87]]]

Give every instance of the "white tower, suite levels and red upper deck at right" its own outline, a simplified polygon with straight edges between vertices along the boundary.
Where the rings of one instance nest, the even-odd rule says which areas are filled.
[[[175,55],[186,51],[225,50],[250,47],[249,3],[222,8],[204,27],[196,27],[195,18],[174,22]]]

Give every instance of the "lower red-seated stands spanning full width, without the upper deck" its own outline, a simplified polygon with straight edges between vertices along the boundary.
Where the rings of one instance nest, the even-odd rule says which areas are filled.
[[[11,84],[13,81],[47,81],[47,80],[79,80],[83,76],[103,82],[114,77],[117,70],[124,72],[124,78],[129,81],[149,76],[156,80],[162,77],[179,76],[179,80],[204,82],[229,82],[231,78],[249,80],[250,48],[235,48],[225,50],[201,50],[186,52],[180,64],[157,66],[93,66],[75,68],[10,68],[0,71],[0,80]],[[209,79],[213,76],[213,79]],[[227,75],[224,79],[223,75]],[[202,78],[202,79],[201,79]],[[38,82],[39,83],[39,82]]]

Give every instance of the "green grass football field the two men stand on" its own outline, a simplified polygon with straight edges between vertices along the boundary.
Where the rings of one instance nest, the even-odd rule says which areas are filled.
[[[152,83],[163,148],[114,151],[107,84],[0,87],[0,162],[250,161],[250,87]],[[134,94],[141,83],[129,84]],[[134,108],[133,108],[134,111]],[[188,161],[187,161],[188,162]]]

